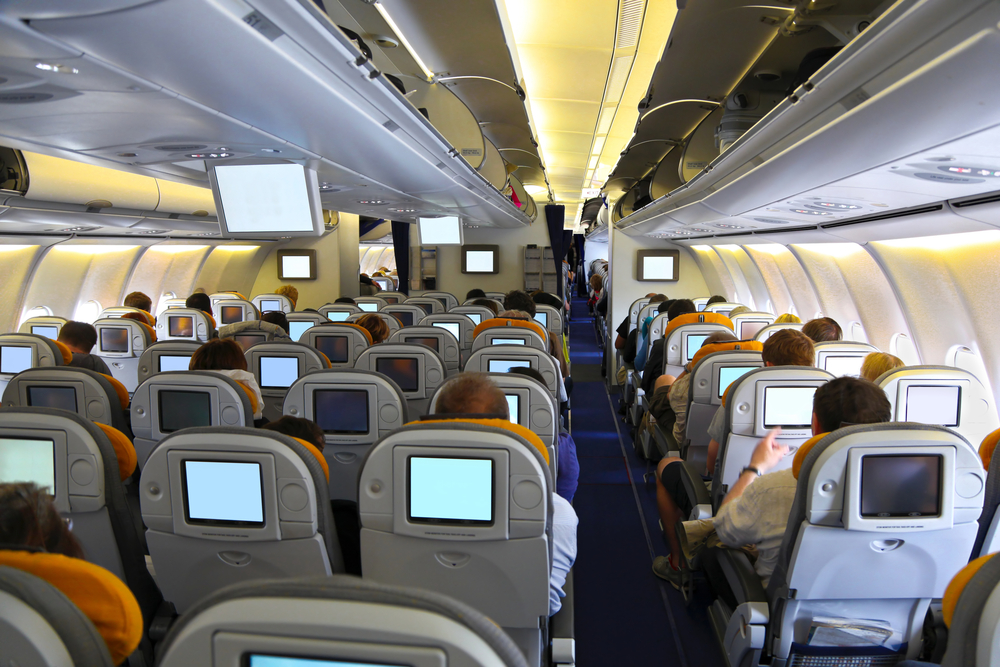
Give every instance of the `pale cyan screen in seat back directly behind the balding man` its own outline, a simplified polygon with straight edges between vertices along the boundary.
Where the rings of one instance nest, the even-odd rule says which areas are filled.
[[[493,461],[411,457],[410,516],[492,521]]]

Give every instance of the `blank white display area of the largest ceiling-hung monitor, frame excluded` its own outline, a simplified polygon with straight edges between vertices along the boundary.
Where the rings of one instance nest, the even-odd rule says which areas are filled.
[[[310,232],[314,229],[305,167],[298,164],[215,168],[226,227],[231,232]]]

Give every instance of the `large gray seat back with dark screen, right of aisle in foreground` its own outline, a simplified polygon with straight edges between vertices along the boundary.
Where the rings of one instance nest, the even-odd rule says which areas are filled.
[[[808,619],[834,609],[888,623],[898,633],[890,650],[917,641],[931,599],[969,560],[986,481],[976,451],[945,428],[912,423],[848,426],[803,450],[768,586],[780,623],[769,633],[774,656],[794,664]],[[912,657],[919,647],[909,648]]]

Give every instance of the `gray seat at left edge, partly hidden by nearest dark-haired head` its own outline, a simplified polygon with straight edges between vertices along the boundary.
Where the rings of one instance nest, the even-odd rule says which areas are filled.
[[[146,569],[126,497],[124,481],[136,467],[128,438],[66,410],[5,407],[0,410],[0,450],[5,468],[30,471],[20,479],[11,479],[8,472],[4,479],[50,489],[56,510],[72,522],[86,559],[125,582],[148,627],[162,597]]]

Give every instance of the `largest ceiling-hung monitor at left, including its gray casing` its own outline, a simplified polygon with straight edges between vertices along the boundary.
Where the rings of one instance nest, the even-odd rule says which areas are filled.
[[[231,162],[208,170],[222,236],[320,236],[323,209],[316,172],[280,162]]]

